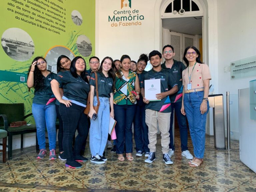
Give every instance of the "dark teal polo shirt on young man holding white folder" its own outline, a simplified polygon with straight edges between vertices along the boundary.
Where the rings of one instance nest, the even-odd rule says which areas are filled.
[[[145,87],[145,80],[148,79],[160,79],[161,82],[161,93],[169,91],[175,85],[177,85],[173,75],[168,73],[165,69],[161,69],[161,71],[157,72],[154,69],[151,69],[144,75],[144,81],[142,87]],[[154,111],[159,111],[163,113],[171,112],[171,101],[169,96],[161,99],[161,101],[150,101],[146,104],[145,109],[151,109]]]

